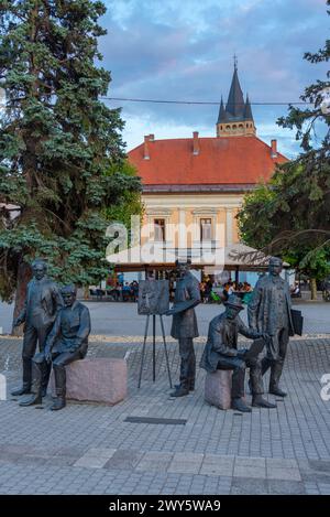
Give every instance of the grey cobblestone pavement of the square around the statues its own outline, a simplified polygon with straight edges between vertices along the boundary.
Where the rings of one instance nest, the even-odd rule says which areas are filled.
[[[1,400],[1,494],[330,494],[330,400],[320,397],[320,379],[330,374],[329,337],[293,340],[283,375],[288,397],[276,399],[276,409],[245,414],[207,405],[200,369],[195,392],[170,398],[160,340],[156,381],[148,344],[140,389],[141,341],[97,340],[90,356],[127,357],[127,400],[69,402],[58,412],[48,411],[50,396],[42,407],[22,408],[10,395]],[[196,340],[197,362],[204,343]],[[20,353],[21,341],[0,340],[8,391],[20,381]],[[177,345],[169,338],[168,353],[176,381]]]

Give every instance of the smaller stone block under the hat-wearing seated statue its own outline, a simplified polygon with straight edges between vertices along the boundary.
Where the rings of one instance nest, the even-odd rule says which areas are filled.
[[[230,409],[231,406],[231,370],[218,369],[207,374],[205,378],[205,399],[219,409]]]

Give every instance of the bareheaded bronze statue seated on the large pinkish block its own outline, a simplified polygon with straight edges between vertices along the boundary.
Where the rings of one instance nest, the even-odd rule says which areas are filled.
[[[54,326],[46,340],[45,348],[33,358],[34,378],[33,394],[20,406],[32,406],[42,402],[42,377],[44,368],[52,365],[55,376],[56,399],[51,407],[58,410],[65,407],[66,373],[65,366],[74,360],[82,359],[87,354],[88,336],[90,334],[89,310],[76,301],[75,286],[61,289],[64,308],[57,314]]]

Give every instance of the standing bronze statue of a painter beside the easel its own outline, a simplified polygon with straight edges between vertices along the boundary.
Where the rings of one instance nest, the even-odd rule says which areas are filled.
[[[194,337],[198,337],[197,319],[194,308],[200,303],[199,282],[189,271],[190,261],[176,260],[177,281],[173,308],[170,335],[179,343],[180,384],[172,397],[184,397],[195,389],[196,356]]]

